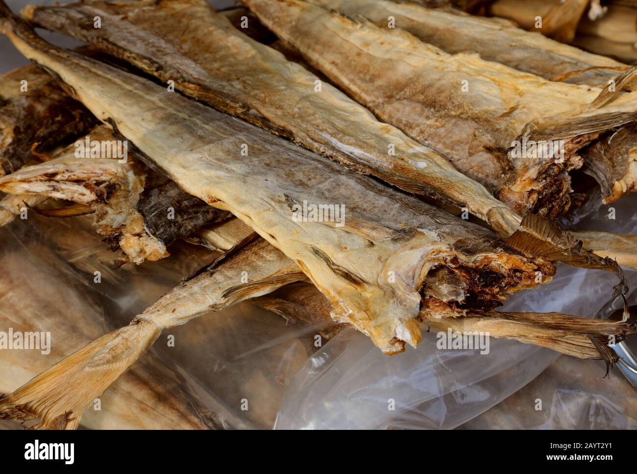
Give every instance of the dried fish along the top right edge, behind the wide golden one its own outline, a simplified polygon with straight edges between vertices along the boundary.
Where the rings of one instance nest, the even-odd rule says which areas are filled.
[[[478,53],[486,61],[500,62],[548,80],[582,71],[568,76],[564,82],[605,87],[617,76],[616,71],[629,68],[606,56],[585,52],[539,32],[525,31],[493,18],[388,0],[310,1],[354,19],[362,15],[373,22],[387,24],[387,18],[394,17],[396,27],[449,54]],[[600,69],[583,71],[592,67]]]

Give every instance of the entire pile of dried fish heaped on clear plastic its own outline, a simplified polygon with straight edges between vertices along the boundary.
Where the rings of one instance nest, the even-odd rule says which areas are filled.
[[[0,3],[0,31],[52,75],[25,69],[47,101],[24,103],[15,82],[27,72],[12,73],[9,117],[31,114],[29,101],[45,106],[31,118],[75,107],[41,137],[3,126],[0,224],[23,212],[93,214],[104,242],[122,251],[116,266],[169,257],[179,239],[224,251],[128,326],[0,398],[0,419],[75,428],[164,329],[248,299],[303,324],[331,319],[328,338],[355,327],[385,354],[417,345],[426,323],[617,361],[609,341],[637,331],[625,317],[495,308],[549,282],[556,262],[615,271],[615,294],[626,292],[613,258],[637,266],[633,236],[587,231],[582,247],[551,219],[577,201],[570,173],[582,166],[608,202],[633,190],[633,69],[450,9],[245,4],[287,57],[255,39],[271,39],[262,27],[251,38],[203,0],[29,6],[28,23]],[[396,25],[373,23],[388,16]],[[54,47],[32,26],[102,51]],[[492,30],[524,58],[475,41]],[[566,82],[547,80],[556,76]],[[561,154],[517,155],[516,141],[559,141]],[[117,152],[100,154],[104,143]],[[319,205],[325,215],[308,213]],[[483,226],[440,207],[464,208]]]

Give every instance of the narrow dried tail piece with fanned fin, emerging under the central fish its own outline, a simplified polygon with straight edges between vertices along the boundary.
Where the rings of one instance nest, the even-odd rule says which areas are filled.
[[[248,241],[166,293],[128,326],[93,341],[0,398],[0,420],[39,418],[34,429],[75,429],[90,403],[148,350],[163,329],[304,278],[294,262],[266,241]]]

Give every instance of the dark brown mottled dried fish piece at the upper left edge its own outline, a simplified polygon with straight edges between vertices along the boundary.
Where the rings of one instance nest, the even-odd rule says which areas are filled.
[[[24,81],[24,82],[23,82]],[[0,76],[0,176],[87,133],[97,120],[36,66]]]

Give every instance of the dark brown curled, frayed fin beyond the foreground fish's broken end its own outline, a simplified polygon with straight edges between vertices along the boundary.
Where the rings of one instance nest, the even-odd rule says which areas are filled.
[[[628,291],[624,271],[615,260],[600,257],[582,248],[581,240],[562,230],[552,220],[528,214],[522,219],[520,228],[505,240],[513,248],[527,255],[545,257],[552,262],[563,262],[580,268],[612,271],[619,278],[619,284],[614,288],[613,298],[619,294],[625,295]]]

